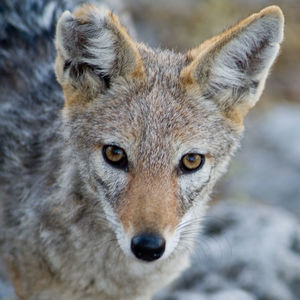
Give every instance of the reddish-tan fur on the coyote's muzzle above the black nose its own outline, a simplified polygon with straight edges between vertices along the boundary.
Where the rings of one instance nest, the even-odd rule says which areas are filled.
[[[181,218],[177,194],[175,178],[135,176],[118,212],[125,231],[172,232]]]

